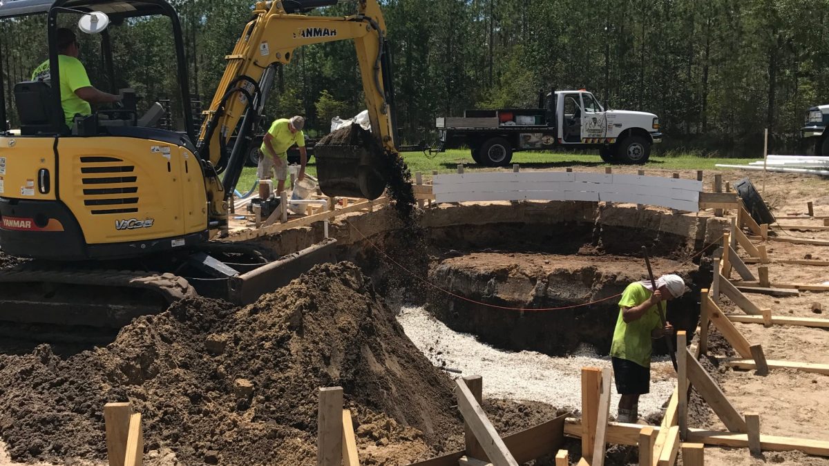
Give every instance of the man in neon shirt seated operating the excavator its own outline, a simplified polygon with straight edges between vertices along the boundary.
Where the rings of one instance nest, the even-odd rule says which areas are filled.
[[[71,128],[76,114],[92,114],[90,104],[111,104],[119,102],[121,97],[101,92],[90,84],[90,77],[86,75],[84,65],[78,60],[80,51],[75,32],[61,27],[57,30],[56,36],[58,70],[61,74],[61,107],[66,126]],[[32,80],[51,80],[48,59],[32,72]]]

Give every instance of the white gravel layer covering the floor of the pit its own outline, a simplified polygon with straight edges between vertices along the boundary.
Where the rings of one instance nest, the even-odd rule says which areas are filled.
[[[540,352],[507,352],[478,342],[473,335],[457,333],[423,308],[402,308],[397,318],[406,336],[435,366],[461,371],[450,376],[483,377],[483,396],[542,401],[560,408],[581,407],[581,368],[610,367],[609,357],[599,357],[581,347],[570,357],[550,357]],[[655,358],[651,392],[639,400],[639,415],[659,413],[671,396],[676,379],[667,357]],[[613,388],[611,415],[616,415],[619,396]]]

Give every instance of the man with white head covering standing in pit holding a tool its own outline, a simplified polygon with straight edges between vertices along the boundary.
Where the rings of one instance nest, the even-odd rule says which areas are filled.
[[[619,315],[610,357],[619,400],[618,422],[638,422],[639,396],[650,391],[652,340],[671,337],[673,326],[662,326],[657,303],[685,294],[685,281],[674,274],[656,280],[654,291],[649,280],[629,284],[619,300]]]

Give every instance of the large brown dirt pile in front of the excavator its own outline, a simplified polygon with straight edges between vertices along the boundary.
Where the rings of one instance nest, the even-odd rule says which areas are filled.
[[[383,426],[362,432],[379,446],[461,430],[451,381],[341,263],[245,308],[182,301],[65,360],[46,345],[0,356],[0,435],[18,461],[102,459],[104,404],[129,400],[147,449],[180,464],[313,464],[319,386],[344,388],[356,429]]]

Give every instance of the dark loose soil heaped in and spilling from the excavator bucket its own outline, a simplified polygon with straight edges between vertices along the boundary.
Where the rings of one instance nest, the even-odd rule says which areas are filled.
[[[383,154],[380,157],[383,167],[376,167],[388,180],[392,206],[406,226],[414,226],[414,192],[409,167],[400,157],[400,153],[390,152],[381,147],[371,132],[362,129],[359,124],[350,124],[326,134],[317,145],[322,146],[360,146],[370,153]]]

